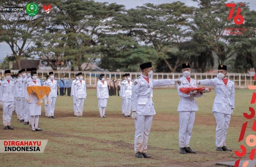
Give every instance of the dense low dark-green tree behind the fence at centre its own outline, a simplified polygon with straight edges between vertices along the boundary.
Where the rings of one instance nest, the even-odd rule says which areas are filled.
[[[132,37],[126,34],[108,35],[100,39],[100,67],[109,71],[139,71],[139,64],[152,61],[156,52],[150,47],[140,46]]]

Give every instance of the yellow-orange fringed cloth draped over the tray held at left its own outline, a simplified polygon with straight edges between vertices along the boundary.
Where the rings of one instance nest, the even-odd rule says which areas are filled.
[[[38,98],[38,105],[42,105],[42,100],[44,96],[47,97],[47,104],[49,103],[48,96],[51,92],[51,88],[49,86],[28,86],[28,102],[30,102],[30,95],[32,94],[32,91],[34,92],[34,95]]]

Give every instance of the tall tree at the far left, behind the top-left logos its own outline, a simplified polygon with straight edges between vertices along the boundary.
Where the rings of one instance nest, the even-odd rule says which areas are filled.
[[[34,3],[41,5],[41,1],[34,0]],[[22,6],[25,10],[27,2],[22,0],[0,0],[1,6]],[[21,69],[20,60],[23,57],[30,57],[28,50],[32,46],[34,32],[40,29],[43,11],[38,11],[34,17],[26,12],[1,12],[0,13],[0,42],[7,43],[11,50],[18,68]]]

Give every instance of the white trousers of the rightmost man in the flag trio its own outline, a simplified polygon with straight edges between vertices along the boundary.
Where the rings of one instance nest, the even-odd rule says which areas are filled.
[[[216,147],[226,146],[226,134],[229,127],[231,114],[213,112],[216,119]]]

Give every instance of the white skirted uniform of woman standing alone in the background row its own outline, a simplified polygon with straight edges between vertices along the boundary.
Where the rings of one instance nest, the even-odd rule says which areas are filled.
[[[99,80],[97,82],[96,95],[98,98],[100,116],[102,117],[105,115],[106,105],[109,98],[108,83],[106,81]]]

